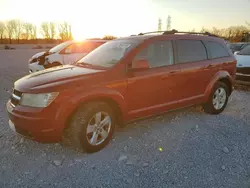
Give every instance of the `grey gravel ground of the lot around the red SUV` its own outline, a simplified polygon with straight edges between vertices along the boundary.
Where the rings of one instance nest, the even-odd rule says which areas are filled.
[[[129,124],[94,154],[40,144],[8,128],[13,82],[37,50],[0,51],[0,187],[250,187],[250,93],[220,115],[198,107]]]

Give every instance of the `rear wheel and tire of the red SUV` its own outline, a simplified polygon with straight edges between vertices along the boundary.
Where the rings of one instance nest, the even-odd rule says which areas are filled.
[[[217,82],[213,87],[208,102],[204,105],[204,111],[209,114],[220,114],[227,106],[228,97],[228,86],[223,82]]]

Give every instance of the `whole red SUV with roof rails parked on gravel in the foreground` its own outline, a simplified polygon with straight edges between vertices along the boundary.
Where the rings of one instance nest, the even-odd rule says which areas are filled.
[[[190,105],[219,114],[236,60],[223,39],[176,30],[109,41],[75,65],[27,75],[7,103],[9,126],[36,141],[70,139],[87,152],[115,125]]]

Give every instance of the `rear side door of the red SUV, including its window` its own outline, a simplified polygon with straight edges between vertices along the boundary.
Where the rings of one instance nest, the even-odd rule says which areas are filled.
[[[203,96],[209,82],[210,72],[207,51],[201,40],[176,40],[177,64],[180,65],[182,78],[182,99],[186,105]]]

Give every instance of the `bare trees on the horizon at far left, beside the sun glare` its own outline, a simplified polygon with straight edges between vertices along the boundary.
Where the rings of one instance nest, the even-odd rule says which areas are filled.
[[[39,39],[38,36],[40,34]],[[41,41],[53,43],[56,40],[66,41],[73,39],[71,25],[67,22],[43,22],[40,26],[23,22],[18,19],[0,21],[0,43],[27,43],[28,41]]]

